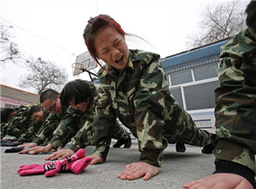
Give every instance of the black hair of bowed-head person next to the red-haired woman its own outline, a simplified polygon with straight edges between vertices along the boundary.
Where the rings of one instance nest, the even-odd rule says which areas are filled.
[[[90,98],[90,88],[87,81],[76,79],[67,83],[61,91],[61,106],[68,107],[74,98],[75,105]]]

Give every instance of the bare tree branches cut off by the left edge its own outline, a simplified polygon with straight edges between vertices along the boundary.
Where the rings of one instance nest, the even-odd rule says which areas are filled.
[[[0,52],[0,63],[3,65],[8,60],[11,60],[15,63],[15,60],[20,58],[19,57],[19,50],[18,45],[11,41],[13,37],[11,30],[13,26],[6,26],[3,23],[0,26],[0,45],[1,45],[1,52]]]

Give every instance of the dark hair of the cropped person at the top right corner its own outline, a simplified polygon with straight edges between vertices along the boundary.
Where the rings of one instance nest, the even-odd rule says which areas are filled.
[[[247,5],[247,26],[250,27],[256,35],[256,1],[251,1]]]

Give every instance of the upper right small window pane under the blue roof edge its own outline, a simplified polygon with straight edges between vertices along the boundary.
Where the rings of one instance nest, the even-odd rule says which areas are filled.
[[[218,77],[218,64],[193,69],[195,81]]]

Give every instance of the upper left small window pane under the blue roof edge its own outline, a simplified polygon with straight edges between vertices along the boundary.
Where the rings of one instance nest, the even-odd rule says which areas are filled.
[[[191,70],[171,74],[172,86],[189,82],[193,82]]]

